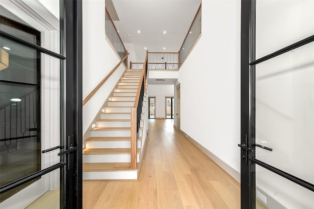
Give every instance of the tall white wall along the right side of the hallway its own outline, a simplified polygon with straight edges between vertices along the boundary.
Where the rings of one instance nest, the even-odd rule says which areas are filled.
[[[224,169],[238,181],[240,15],[240,0],[203,0],[202,37],[178,78],[181,130],[229,165]]]

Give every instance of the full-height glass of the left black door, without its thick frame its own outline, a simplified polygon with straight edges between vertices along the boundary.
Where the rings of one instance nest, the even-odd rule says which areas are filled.
[[[59,0],[54,4],[58,10]],[[33,10],[25,13],[16,9],[19,6]],[[59,13],[52,14],[46,6],[39,1],[0,3],[1,191],[12,182],[60,164],[60,60],[27,46],[60,51]],[[32,12],[42,19],[34,20]],[[54,169],[1,192],[0,208],[26,208],[42,197],[46,203],[39,208],[48,207],[51,201],[53,208],[59,208],[63,168]],[[47,202],[47,198],[52,199]]]

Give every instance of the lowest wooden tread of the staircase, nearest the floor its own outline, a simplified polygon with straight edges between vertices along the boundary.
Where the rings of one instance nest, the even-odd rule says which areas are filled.
[[[137,171],[136,169],[131,169],[131,163],[83,163],[83,171]]]

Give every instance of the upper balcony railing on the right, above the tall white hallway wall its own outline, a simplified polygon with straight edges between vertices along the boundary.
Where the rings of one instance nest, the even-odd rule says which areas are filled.
[[[190,53],[197,40],[202,33],[202,4],[200,4],[194,19],[189,27],[187,34],[184,38],[183,44],[179,50],[180,54],[180,66],[184,62],[187,55]]]

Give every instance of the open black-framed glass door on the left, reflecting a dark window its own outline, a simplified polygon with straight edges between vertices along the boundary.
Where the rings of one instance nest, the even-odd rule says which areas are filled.
[[[0,2],[0,208],[82,207],[81,2],[50,3]]]

